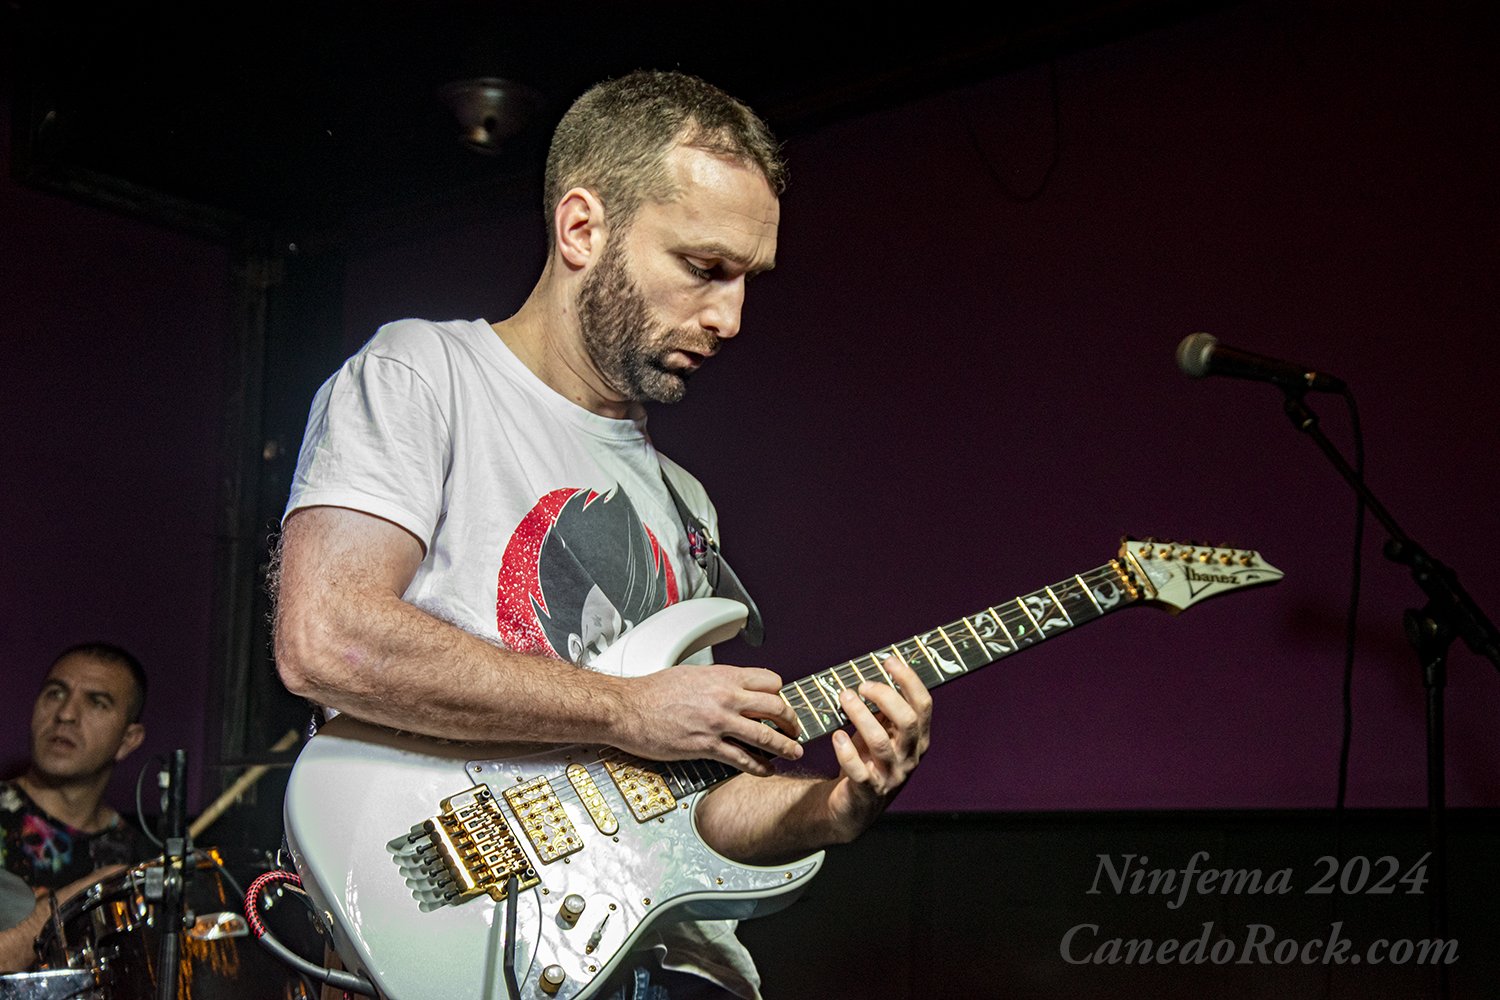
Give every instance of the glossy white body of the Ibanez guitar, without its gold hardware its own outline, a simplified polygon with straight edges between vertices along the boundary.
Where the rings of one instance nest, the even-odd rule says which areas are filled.
[[[675,604],[621,636],[606,660],[628,661],[626,673],[657,670],[735,634],[744,615],[742,606],[720,598]],[[608,663],[602,669],[616,672]],[[444,799],[474,786],[504,804],[506,792],[544,780],[582,844],[558,840],[566,834],[556,817],[543,816],[528,828],[510,814],[514,844],[537,877],[514,900],[514,970],[525,1000],[592,996],[630,964],[630,952],[652,927],[778,910],[822,867],[820,852],[777,868],[717,855],[694,826],[704,792],[676,798],[669,811],[639,822],[604,757],[620,753],[444,744],[346,715],[328,721],[292,769],[285,823],[303,886],[333,928],[345,966],[396,1000],[510,996],[502,973],[507,903],[484,892],[444,900],[418,855],[429,841],[412,834]],[[618,823],[615,832],[600,831],[570,783],[570,765],[586,768]],[[546,861],[526,829],[544,849],[570,853]],[[430,847],[426,856],[432,858]],[[582,900],[576,919],[564,913],[564,900],[574,907]],[[555,990],[543,988],[543,970],[554,979],[561,972]]]

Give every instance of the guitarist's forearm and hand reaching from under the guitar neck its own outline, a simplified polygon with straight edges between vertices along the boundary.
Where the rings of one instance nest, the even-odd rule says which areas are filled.
[[[854,691],[840,708],[854,733],[832,735],[836,778],[738,775],[698,807],[698,828],[718,853],[753,864],[780,864],[830,844],[844,844],[870,828],[910,777],[932,730],[932,696],[910,667],[886,660],[900,691],[879,682],[860,685],[879,715]]]

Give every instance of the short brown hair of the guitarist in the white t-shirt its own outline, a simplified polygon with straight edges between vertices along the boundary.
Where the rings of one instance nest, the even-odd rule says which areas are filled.
[[[666,171],[675,145],[754,166],[777,195],[786,187],[780,145],[750,108],[698,76],[636,70],[590,88],[562,115],[548,150],[544,216],[566,192],[586,187],[606,223],[624,231],[644,201],[676,193]],[[549,225],[549,247],[552,240]]]

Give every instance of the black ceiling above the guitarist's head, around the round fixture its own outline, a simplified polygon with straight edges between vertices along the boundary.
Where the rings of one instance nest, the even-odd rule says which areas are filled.
[[[32,183],[207,231],[338,232],[480,187],[531,196],[567,103],[634,67],[699,73],[786,138],[1216,6],[9,0],[0,72]],[[498,154],[465,148],[440,99],[476,76],[537,96]]]

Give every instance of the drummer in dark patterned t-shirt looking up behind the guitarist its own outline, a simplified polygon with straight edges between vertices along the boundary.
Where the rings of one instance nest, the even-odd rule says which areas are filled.
[[[32,759],[24,774],[0,781],[0,867],[39,898],[153,853],[104,801],[116,763],[146,738],[144,706],[146,670],[120,646],[70,646],[46,672],[32,708]],[[28,964],[10,946],[24,936],[24,927],[0,928],[0,972]]]

